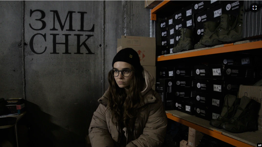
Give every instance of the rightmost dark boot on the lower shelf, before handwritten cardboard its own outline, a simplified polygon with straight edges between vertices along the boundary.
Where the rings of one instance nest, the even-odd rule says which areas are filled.
[[[243,133],[258,130],[258,111],[260,103],[246,96],[241,98],[240,104],[228,122],[221,127],[231,133]]]

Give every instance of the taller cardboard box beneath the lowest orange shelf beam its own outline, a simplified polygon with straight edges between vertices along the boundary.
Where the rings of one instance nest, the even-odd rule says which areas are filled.
[[[196,131],[193,128],[189,127],[188,131],[188,146],[190,147],[196,147],[199,145],[199,141],[202,139],[203,134],[201,134],[199,131]]]

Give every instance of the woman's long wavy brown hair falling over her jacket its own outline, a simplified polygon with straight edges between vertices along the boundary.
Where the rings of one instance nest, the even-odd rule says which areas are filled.
[[[143,88],[143,67],[133,66],[133,79],[130,84],[129,93],[125,93],[124,88],[119,88],[111,71],[108,73],[109,98],[108,106],[111,109],[111,117],[114,125],[124,125],[130,128],[130,120],[137,115],[137,108],[143,97],[141,91]],[[119,73],[121,74],[121,73]]]

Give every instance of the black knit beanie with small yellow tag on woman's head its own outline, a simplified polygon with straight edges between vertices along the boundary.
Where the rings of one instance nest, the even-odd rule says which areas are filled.
[[[139,69],[143,69],[140,64],[140,58],[138,56],[138,53],[132,49],[132,48],[124,48],[121,49],[116,56],[114,56],[112,67],[114,67],[114,63],[122,61],[127,62],[133,66],[138,67]]]

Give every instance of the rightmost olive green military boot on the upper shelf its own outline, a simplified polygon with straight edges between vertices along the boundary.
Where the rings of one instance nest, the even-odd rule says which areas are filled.
[[[219,36],[219,41],[221,42],[237,42],[243,39],[243,12],[244,7],[240,7],[239,15],[233,24],[233,29],[227,34]]]

